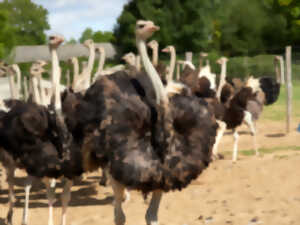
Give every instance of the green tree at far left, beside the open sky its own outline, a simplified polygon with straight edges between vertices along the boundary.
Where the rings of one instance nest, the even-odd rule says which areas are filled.
[[[8,22],[15,29],[17,45],[44,44],[50,28],[48,11],[31,0],[4,0],[0,9],[7,11]]]

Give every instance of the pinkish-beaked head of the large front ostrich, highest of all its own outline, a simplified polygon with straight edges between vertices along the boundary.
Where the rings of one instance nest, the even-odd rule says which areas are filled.
[[[138,20],[135,27],[136,38],[146,41],[159,29],[159,26],[156,26],[152,21]]]

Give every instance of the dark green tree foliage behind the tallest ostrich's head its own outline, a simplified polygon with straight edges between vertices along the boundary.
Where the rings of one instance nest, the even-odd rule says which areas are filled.
[[[218,51],[251,55],[300,44],[300,0],[131,0],[114,29],[120,53],[136,51],[138,19],[161,30],[153,38],[178,52]]]

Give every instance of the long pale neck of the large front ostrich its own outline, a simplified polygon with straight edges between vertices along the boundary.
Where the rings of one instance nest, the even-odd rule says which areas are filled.
[[[150,81],[154,87],[155,90],[155,95],[156,95],[156,103],[157,104],[162,104],[162,103],[168,103],[168,97],[165,91],[165,88],[163,86],[163,83],[161,82],[161,79],[153,67],[152,63],[150,62],[148,53],[147,53],[147,48],[146,48],[146,43],[143,40],[136,40],[137,42],[137,47],[144,65],[144,68],[147,72],[147,75],[150,78]]]

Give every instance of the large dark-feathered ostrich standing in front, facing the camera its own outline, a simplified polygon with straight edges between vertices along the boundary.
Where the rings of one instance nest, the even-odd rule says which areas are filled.
[[[108,169],[117,225],[125,224],[125,188],[153,193],[146,221],[157,224],[162,193],[196,179],[208,166],[215,141],[217,124],[207,104],[188,94],[168,95],[151,64],[145,41],[158,29],[151,21],[136,24],[146,73],[102,77],[84,96],[96,108],[94,129],[82,147],[84,168]]]

